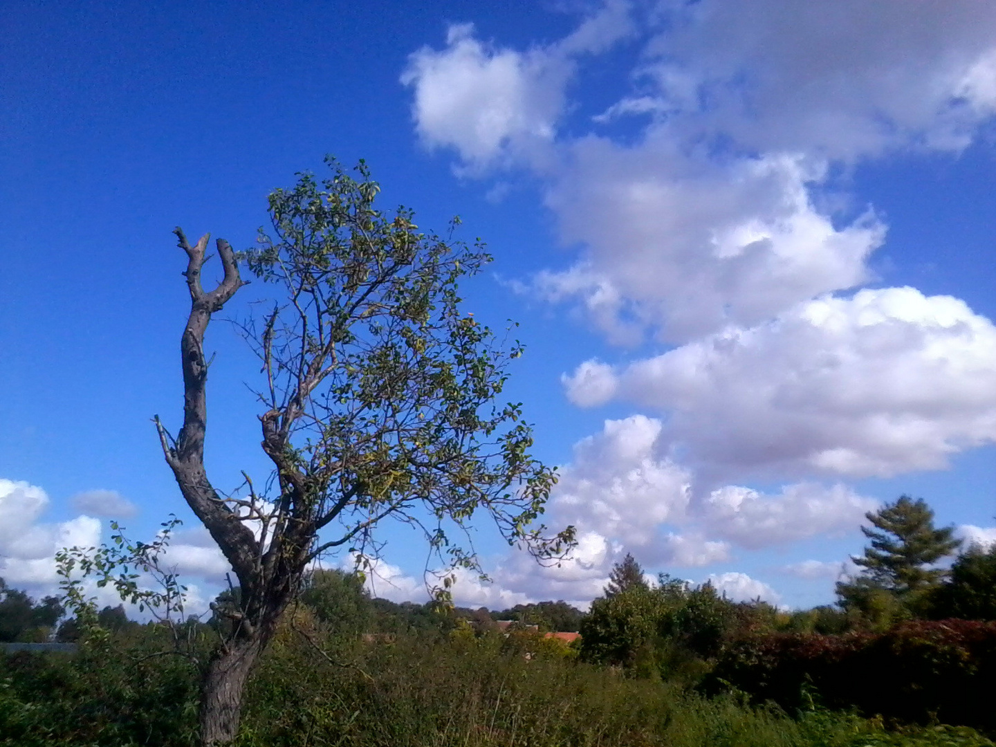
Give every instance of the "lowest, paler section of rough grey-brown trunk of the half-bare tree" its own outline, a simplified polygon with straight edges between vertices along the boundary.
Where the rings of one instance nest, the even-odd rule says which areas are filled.
[[[231,641],[211,658],[200,686],[200,742],[228,744],[238,735],[242,695],[262,650],[255,636]]]

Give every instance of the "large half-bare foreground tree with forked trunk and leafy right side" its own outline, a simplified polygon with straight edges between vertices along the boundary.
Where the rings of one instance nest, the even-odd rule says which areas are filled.
[[[237,256],[217,241],[224,274],[213,290],[201,282],[208,236],[191,245],[175,230],[190,294],[183,424],[173,438],[155,421],[180,492],[241,590],[203,678],[204,744],[235,738],[246,679],[309,564],[332,550],[369,562],[379,522],[421,528],[450,568],[478,569],[454,539],[478,511],[541,559],[573,541],[571,528],[548,536],[536,524],[555,473],[530,455],[520,406],[496,403],[522,348],[504,349],[460,309],[458,282],[490,257],[479,243],[418,233],[410,210],[378,210],[363,162],[359,180],[328,162],[332,176],[321,184],[304,174],[270,194],[271,229],[260,230],[255,249]],[[240,326],[262,367],[256,394],[273,473],[269,491],[245,475],[226,494],[204,467],[204,335],[245,285],[243,258],[277,293],[262,318]]]

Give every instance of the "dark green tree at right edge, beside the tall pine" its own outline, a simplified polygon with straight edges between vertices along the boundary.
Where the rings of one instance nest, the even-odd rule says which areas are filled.
[[[996,544],[988,550],[972,545],[951,566],[950,578],[930,596],[936,620],[996,621]]]

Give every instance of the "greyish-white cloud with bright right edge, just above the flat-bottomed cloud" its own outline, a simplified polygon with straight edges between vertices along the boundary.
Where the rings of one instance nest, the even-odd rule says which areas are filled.
[[[839,227],[818,210],[810,191],[825,166],[802,155],[714,162],[654,135],[635,146],[587,137],[568,152],[546,201],[585,254],[534,285],[550,301],[580,300],[615,343],[646,328],[685,341],[855,287],[884,237],[872,213]]]

